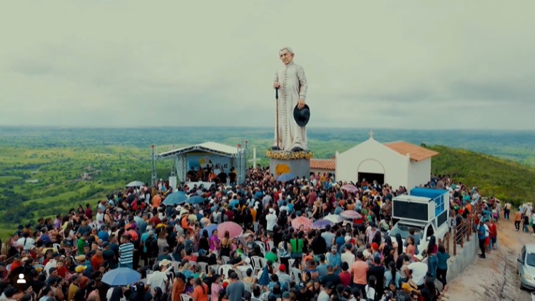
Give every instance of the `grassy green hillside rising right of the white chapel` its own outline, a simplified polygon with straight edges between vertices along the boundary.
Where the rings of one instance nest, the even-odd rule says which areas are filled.
[[[535,195],[535,168],[463,149],[425,147],[440,153],[432,160],[432,173],[477,185],[481,195],[494,195],[516,205],[531,201]]]

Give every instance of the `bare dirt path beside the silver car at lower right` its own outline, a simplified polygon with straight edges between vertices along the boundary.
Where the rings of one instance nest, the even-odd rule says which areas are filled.
[[[450,300],[531,300],[529,292],[520,290],[516,274],[516,258],[522,246],[535,241],[531,233],[516,232],[513,220],[501,219],[498,250],[487,253],[486,259],[477,257],[448,284]]]

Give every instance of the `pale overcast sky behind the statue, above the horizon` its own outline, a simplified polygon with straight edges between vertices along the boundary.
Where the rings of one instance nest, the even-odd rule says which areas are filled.
[[[332,3],[332,4],[327,4]],[[2,1],[0,125],[535,128],[535,1]]]

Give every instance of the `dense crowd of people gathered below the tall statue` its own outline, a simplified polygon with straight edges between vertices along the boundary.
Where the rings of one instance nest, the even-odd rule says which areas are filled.
[[[97,204],[20,225],[4,245],[0,300],[447,300],[444,246],[432,236],[418,250],[414,231],[404,240],[388,235],[392,198],[407,190],[362,180],[349,192],[345,184],[325,173],[280,183],[257,168],[241,185],[173,189],[160,181],[115,191]],[[425,186],[449,190],[453,225],[471,230],[462,227],[482,203],[477,188],[447,176],[432,176]],[[204,201],[164,205],[175,190]],[[485,205],[482,223],[495,204]],[[317,229],[292,223],[344,210],[360,218]],[[243,233],[218,233],[224,222]],[[117,267],[137,270],[141,280],[103,282]],[[25,285],[17,284],[20,274]]]

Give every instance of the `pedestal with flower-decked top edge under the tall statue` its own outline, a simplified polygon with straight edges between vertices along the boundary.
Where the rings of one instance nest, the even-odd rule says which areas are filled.
[[[275,178],[285,173],[310,178],[310,159],[313,156],[310,151],[267,151],[266,156],[270,158],[270,173]]]

